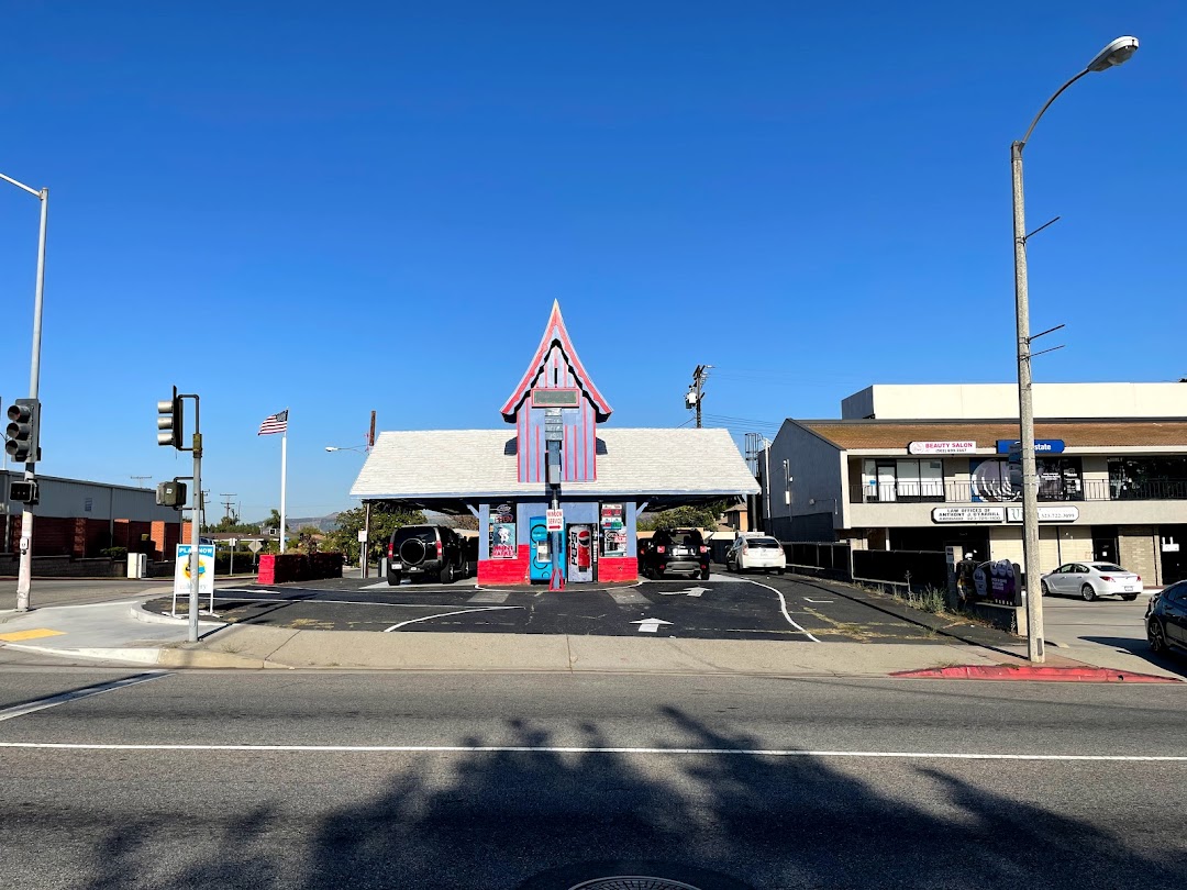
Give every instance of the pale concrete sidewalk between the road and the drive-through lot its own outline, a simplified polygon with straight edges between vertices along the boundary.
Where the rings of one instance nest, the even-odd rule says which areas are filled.
[[[294,630],[204,621],[185,642],[184,617],[142,609],[146,597],[5,616],[0,647],[12,651],[192,668],[886,676],[953,666],[1022,663],[997,649],[895,643],[634,638],[544,634],[380,634]],[[1020,647],[1024,656],[1024,647]],[[1077,653],[1079,655],[1079,653]],[[1110,660],[1111,661],[1111,660]],[[1048,654],[1048,663],[1078,662]],[[1093,662],[1087,662],[1093,663]],[[1144,660],[1128,670],[1175,675]]]

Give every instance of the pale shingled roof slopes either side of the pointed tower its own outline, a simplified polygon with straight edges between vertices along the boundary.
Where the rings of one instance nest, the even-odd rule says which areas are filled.
[[[566,496],[758,492],[728,430],[607,428],[597,438],[597,481],[566,482]],[[418,503],[542,495],[544,485],[518,481],[515,466],[513,428],[386,432],[350,495]]]

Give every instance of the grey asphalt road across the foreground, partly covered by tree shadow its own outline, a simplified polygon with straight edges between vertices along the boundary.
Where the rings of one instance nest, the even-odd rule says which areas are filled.
[[[567,890],[611,859],[700,890],[1187,873],[1175,687],[186,672],[6,719],[131,674],[0,669],[5,888]]]

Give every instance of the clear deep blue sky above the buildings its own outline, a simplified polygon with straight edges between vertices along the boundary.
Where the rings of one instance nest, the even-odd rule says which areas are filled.
[[[1009,145],[1046,381],[1187,376],[1187,4],[0,2],[0,172],[51,189],[42,471],[350,506],[380,430],[493,427],[559,299],[611,424],[773,432],[1015,375]],[[0,183],[0,395],[37,201]],[[214,500],[214,498],[212,498]],[[217,513],[211,508],[211,516]]]

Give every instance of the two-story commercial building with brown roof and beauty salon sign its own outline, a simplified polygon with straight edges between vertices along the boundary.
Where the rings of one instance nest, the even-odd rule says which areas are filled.
[[[1187,577],[1187,383],[1039,384],[1040,565]],[[1013,418],[1011,418],[1013,414]],[[793,420],[758,462],[763,525],[855,548],[960,546],[1022,561],[1013,384],[874,386],[837,420]]]

